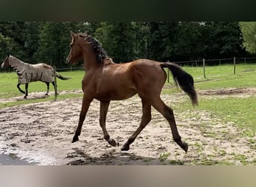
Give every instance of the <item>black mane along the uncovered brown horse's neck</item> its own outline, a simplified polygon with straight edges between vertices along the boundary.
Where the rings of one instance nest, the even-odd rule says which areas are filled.
[[[97,62],[103,63],[104,59],[108,58],[107,53],[105,52],[105,50],[101,46],[101,43],[97,39],[88,34],[79,34],[79,37],[84,37],[85,42],[89,43],[91,48],[94,49],[94,52],[97,57]]]

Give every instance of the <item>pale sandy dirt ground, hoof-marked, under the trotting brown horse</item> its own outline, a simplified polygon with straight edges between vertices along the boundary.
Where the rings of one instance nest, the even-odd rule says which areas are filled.
[[[80,91],[74,91],[79,93]],[[230,88],[199,92],[202,97],[253,96],[255,88]],[[53,94],[53,93],[51,93]],[[61,92],[60,94],[64,94]],[[43,96],[29,93],[28,99]],[[162,95],[163,101],[180,105],[184,93]],[[0,99],[12,102],[22,96]],[[82,99],[64,99],[0,109],[0,154],[37,162],[37,165],[255,165],[256,138],[242,137],[243,129],[224,123],[209,111],[196,108],[174,115],[185,153],[171,137],[167,121],[152,108],[152,120],[131,144],[130,150],[111,147],[99,125],[100,102],[91,102],[79,141],[71,143],[79,120]],[[141,119],[138,96],[112,101],[107,116],[109,135],[122,146]]]

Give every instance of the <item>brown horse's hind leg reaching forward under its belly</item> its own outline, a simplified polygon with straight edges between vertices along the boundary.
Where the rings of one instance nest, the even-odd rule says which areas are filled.
[[[149,123],[150,120],[151,120],[151,105],[142,100],[141,123],[139,124],[138,129],[136,129],[135,132],[133,132],[133,134],[129,137],[129,139],[121,148],[121,150],[129,150],[129,144],[132,144],[132,142],[135,141],[135,138],[144,129],[144,127],[147,126],[147,123]]]

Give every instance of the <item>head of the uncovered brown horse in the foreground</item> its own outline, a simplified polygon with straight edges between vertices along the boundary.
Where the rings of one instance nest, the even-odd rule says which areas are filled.
[[[80,58],[82,58],[82,48],[79,46],[79,34],[75,34],[72,31],[70,31],[72,41],[70,43],[70,54],[67,56],[67,61],[73,65],[78,61]]]

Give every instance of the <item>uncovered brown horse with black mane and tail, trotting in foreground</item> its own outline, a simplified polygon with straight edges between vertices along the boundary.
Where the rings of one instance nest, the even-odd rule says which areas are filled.
[[[188,145],[181,141],[174,119],[174,112],[165,105],[160,98],[162,87],[165,84],[166,73],[164,67],[168,67],[174,77],[176,85],[187,93],[192,105],[198,105],[198,97],[194,88],[192,76],[183,71],[176,64],[168,62],[150,61],[138,59],[129,63],[115,64],[108,58],[100,43],[88,34],[71,32],[70,54],[67,61],[75,64],[83,58],[85,76],[82,79],[82,109],[79,116],[79,124],[72,142],[79,140],[82,124],[89,105],[93,99],[100,101],[100,126],[103,129],[104,139],[113,147],[118,142],[110,138],[106,130],[106,114],[111,100],[127,99],[138,93],[142,102],[142,117],[138,129],[128,138],[121,150],[129,150],[129,145],[135,141],[138,134],[151,120],[151,105],[159,111],[171,126],[174,141],[185,151]]]

